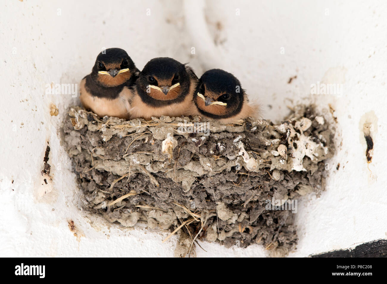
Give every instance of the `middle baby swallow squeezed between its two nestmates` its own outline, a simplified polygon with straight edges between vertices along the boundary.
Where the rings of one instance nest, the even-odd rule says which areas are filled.
[[[152,59],[134,88],[130,118],[181,116],[192,102],[197,81],[189,66],[168,57]]]

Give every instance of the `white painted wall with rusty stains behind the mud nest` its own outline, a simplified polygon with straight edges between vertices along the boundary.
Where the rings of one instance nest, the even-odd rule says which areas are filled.
[[[190,62],[199,77],[208,68],[224,68],[259,100],[267,119],[281,119],[286,105],[297,102],[312,101],[325,111],[331,104],[339,146],[329,161],[329,188],[318,199],[298,201],[300,240],[291,256],[387,238],[384,1],[9,0],[0,5],[0,256],[173,256],[174,238],[161,245],[167,233],[121,228],[82,211],[75,174],[60,145],[65,109],[78,99],[45,95],[45,85],[78,83],[101,49],[110,47],[127,50],[140,69],[158,56]],[[342,94],[311,95],[317,82],[342,83]],[[58,116],[50,116],[51,102]],[[370,111],[375,150],[367,168],[360,121]],[[47,141],[53,190],[40,196]],[[70,232],[69,219],[83,235],[80,240]],[[265,255],[258,245],[202,246],[207,250],[198,248],[202,257]]]

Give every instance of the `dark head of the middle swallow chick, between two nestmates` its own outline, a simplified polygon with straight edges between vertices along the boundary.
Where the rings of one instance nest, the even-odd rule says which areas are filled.
[[[197,80],[189,66],[169,57],[150,60],[140,72],[137,93],[151,106],[182,102]]]

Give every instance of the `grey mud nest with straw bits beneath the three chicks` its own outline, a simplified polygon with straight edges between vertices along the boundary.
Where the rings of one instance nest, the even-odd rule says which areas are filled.
[[[280,125],[99,119],[74,107],[62,130],[84,206],[123,226],[177,233],[176,256],[194,252],[197,240],[288,253],[297,242],[294,210],[268,201],[319,196],[334,149],[324,117],[302,105]]]

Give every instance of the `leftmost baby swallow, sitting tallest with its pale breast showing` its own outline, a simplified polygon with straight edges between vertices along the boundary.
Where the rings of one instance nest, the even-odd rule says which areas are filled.
[[[121,48],[108,48],[97,56],[91,73],[80,82],[80,101],[100,117],[127,118],[131,88],[139,70]]]

